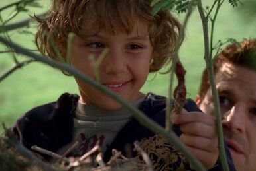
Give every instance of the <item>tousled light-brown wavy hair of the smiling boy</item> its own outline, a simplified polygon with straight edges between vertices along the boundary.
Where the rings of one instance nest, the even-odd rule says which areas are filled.
[[[54,0],[48,15],[36,18],[40,23],[36,44],[43,55],[63,61],[70,32],[81,38],[100,29],[115,34],[113,27],[117,26],[129,34],[133,30],[133,20],[138,18],[149,24],[154,54],[149,71],[159,71],[172,59],[180,22],[170,11],[160,10],[152,15],[152,9],[151,0]],[[53,45],[58,47],[61,55]]]

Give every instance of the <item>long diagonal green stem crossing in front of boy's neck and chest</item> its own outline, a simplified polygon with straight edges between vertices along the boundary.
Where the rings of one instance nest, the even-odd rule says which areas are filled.
[[[127,110],[129,110],[131,112],[131,114],[133,114],[133,116],[139,121],[139,123],[141,123],[141,125],[143,125],[144,127],[147,127],[151,131],[158,133],[160,136],[171,141],[173,143],[173,145],[177,149],[179,149],[182,152],[182,154],[184,154],[184,156],[191,162],[192,166],[196,170],[205,170],[205,168],[204,168],[204,166],[202,166],[201,162],[199,162],[196,158],[194,158],[192,153],[186,149],[186,147],[180,142],[179,138],[176,136],[176,134],[173,131],[171,131],[171,132],[165,131],[163,127],[161,127],[160,125],[155,123],[155,121],[150,120],[139,109],[134,108],[126,100],[123,100],[119,95],[117,95],[114,92],[112,92],[111,90],[105,88],[105,86],[97,83],[93,79],[90,79],[90,77],[86,77],[86,75],[84,75],[80,71],[70,67],[69,65],[66,65],[65,63],[58,63],[57,61],[48,59],[47,57],[43,57],[41,55],[36,55],[36,53],[32,53],[31,51],[26,51],[23,48],[21,48],[21,46],[18,46],[17,44],[14,44],[13,42],[9,42],[8,40],[5,40],[5,38],[2,38],[1,36],[0,36],[0,42],[10,46],[17,53],[27,55],[28,57],[32,57],[33,59],[36,59],[36,61],[40,61],[40,62],[46,63],[52,67],[61,69],[62,71],[66,71],[66,72],[74,75],[74,77],[77,77],[78,79],[81,79],[82,81],[88,83],[89,85],[94,86],[95,88],[97,88],[97,90],[100,90],[104,94],[107,94],[107,96],[109,96],[110,98],[112,98],[113,100],[115,100],[116,102],[118,102],[119,104],[124,106],[125,108],[127,108]]]

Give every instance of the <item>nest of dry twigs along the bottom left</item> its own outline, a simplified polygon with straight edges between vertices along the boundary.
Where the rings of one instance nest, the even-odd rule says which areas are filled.
[[[76,143],[68,151],[72,151],[75,146]],[[135,143],[135,147],[141,153],[138,143]],[[44,153],[56,160],[46,162],[32,151]],[[0,170],[151,170],[149,164],[141,164],[136,158],[125,158],[115,149],[109,162],[105,163],[98,145],[79,158],[66,158],[65,154],[68,154],[68,151],[60,156],[36,145],[32,147],[32,151],[21,145],[15,135],[9,133],[8,136],[0,136]]]

